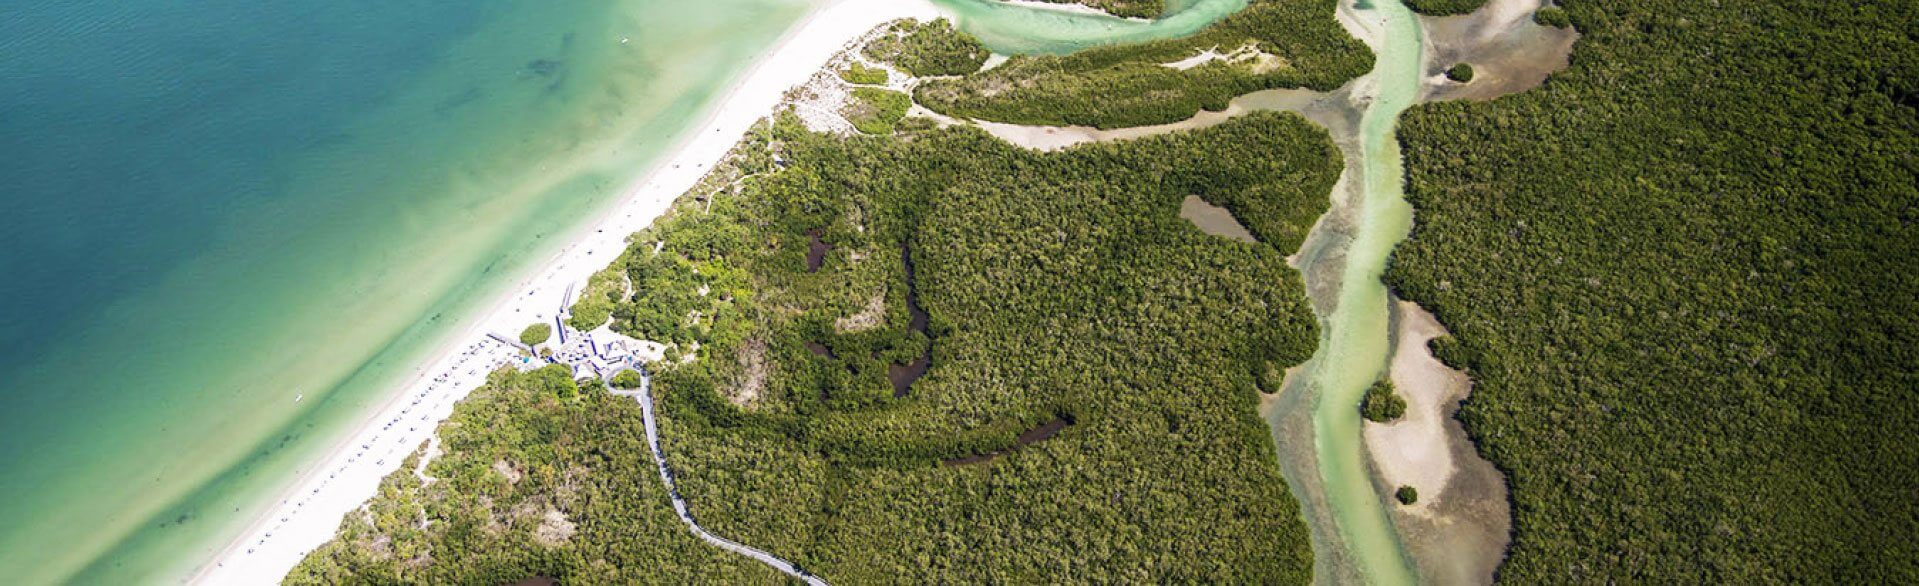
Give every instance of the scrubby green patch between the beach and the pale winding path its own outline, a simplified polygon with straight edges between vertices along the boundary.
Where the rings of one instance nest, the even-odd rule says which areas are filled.
[[[785,584],[674,517],[639,403],[560,400],[572,378],[558,371],[493,373],[439,425],[441,453],[422,471],[436,480],[415,475],[420,453],[407,457],[284,582]],[[553,540],[562,525],[549,515],[572,534]]]

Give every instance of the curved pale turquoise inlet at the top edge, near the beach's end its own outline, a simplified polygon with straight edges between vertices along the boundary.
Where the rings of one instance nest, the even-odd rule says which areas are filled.
[[[979,37],[996,54],[1069,54],[1075,50],[1174,38],[1245,8],[1247,0],[1171,2],[1169,13],[1151,19],[1121,19],[1100,13],[1034,10],[992,0],[933,0],[952,15],[961,31]]]

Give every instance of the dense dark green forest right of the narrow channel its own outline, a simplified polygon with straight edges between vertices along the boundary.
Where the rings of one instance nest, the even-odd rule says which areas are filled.
[[[1401,125],[1501,578],[1919,582],[1919,4],[1560,4],[1570,69]]]

